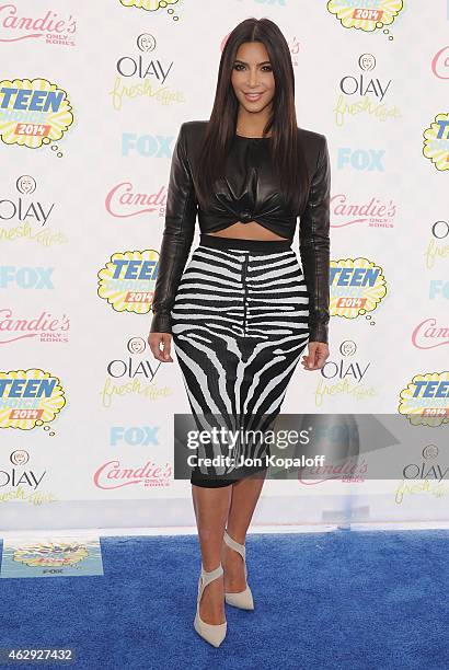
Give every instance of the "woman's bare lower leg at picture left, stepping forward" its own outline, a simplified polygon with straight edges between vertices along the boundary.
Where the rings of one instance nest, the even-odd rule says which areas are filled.
[[[214,570],[221,561],[221,545],[231,503],[232,486],[208,488],[192,485],[192,498],[198,529],[203,566]],[[225,623],[223,578],[214,579],[204,590],[199,603],[199,616],[206,623]]]

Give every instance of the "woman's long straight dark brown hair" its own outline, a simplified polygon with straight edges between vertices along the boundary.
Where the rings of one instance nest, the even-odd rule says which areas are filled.
[[[270,152],[288,207],[301,213],[307,204],[310,177],[298,137],[295,109],[295,74],[287,41],[269,19],[245,19],[229,34],[221,54],[210,119],[207,124],[197,169],[196,195],[207,209],[215,180],[222,176],[226,158],[235,135],[239,101],[231,76],[235,55],[244,42],[262,42],[268,53],[275,79],[273,114],[264,136],[272,131]]]

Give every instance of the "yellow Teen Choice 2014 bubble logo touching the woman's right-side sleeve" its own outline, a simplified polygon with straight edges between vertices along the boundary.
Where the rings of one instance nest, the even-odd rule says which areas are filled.
[[[382,268],[368,258],[331,261],[330,278],[332,316],[361,316],[376,310],[387,294]]]

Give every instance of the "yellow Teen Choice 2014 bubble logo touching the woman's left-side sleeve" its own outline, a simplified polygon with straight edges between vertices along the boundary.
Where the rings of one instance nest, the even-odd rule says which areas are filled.
[[[117,252],[99,272],[99,296],[116,312],[151,310],[159,253],[153,249]]]

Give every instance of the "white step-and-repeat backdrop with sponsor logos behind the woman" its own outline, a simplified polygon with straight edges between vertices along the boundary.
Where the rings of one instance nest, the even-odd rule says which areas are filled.
[[[249,16],[286,36],[332,161],[330,358],[283,413],[418,438],[394,470],[378,446],[377,478],[365,444],[267,481],[254,521],[449,520],[449,3],[21,0],[0,3],[1,529],[194,523],[186,392],[147,337],[174,142]]]

